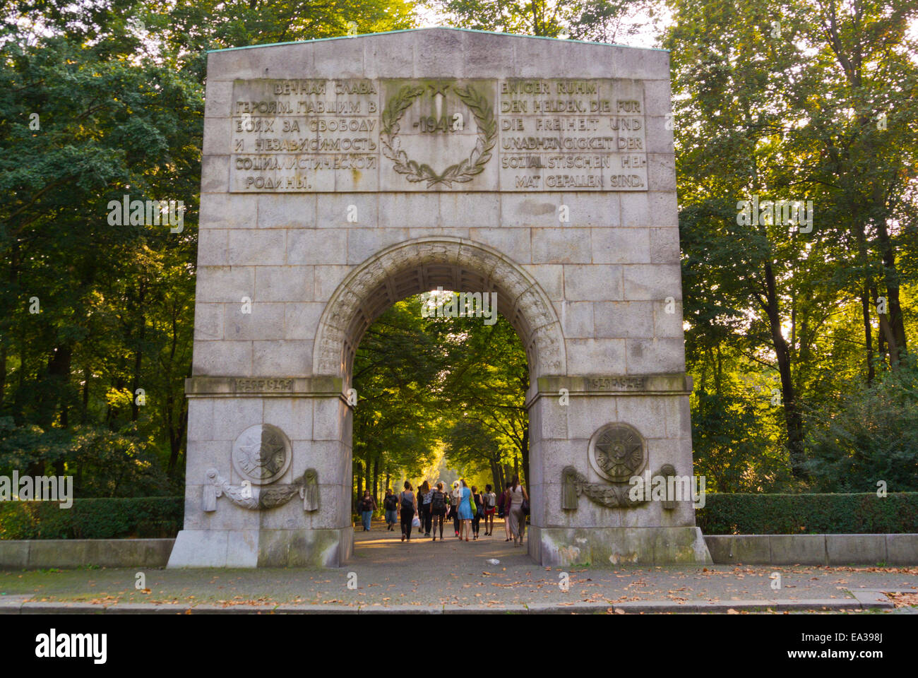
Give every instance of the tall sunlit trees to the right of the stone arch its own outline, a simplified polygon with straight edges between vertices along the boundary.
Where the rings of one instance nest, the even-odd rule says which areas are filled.
[[[894,366],[907,347],[912,5],[670,3],[689,366],[721,399],[734,375],[777,376],[775,408],[757,416],[781,413],[798,487],[821,454],[810,427],[825,425],[804,412],[831,410],[873,382],[875,356]],[[812,200],[812,228],[738,221],[754,197]],[[716,434],[716,418],[700,422]]]

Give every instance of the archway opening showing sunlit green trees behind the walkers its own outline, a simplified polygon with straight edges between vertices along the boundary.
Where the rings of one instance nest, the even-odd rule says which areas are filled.
[[[461,537],[450,492],[453,482],[465,480],[476,500],[471,539],[491,542],[478,555],[506,552],[498,548],[509,538],[499,499],[514,477],[529,478],[529,367],[519,335],[498,311],[497,292],[438,288],[397,301],[364,332],[352,381],[359,403],[353,410],[355,557],[401,542],[398,494],[406,481],[420,509],[410,531],[416,542]],[[433,504],[441,483],[446,521],[438,529]],[[372,502],[365,501],[367,493]],[[375,512],[367,529],[369,506]]]

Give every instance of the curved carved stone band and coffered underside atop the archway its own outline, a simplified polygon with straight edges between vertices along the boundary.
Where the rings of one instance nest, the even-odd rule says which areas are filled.
[[[357,345],[373,321],[396,301],[437,287],[497,292],[498,312],[520,335],[531,379],[565,375],[561,323],[535,280],[487,245],[444,237],[393,245],[341,282],[319,320],[313,374],[349,383]]]

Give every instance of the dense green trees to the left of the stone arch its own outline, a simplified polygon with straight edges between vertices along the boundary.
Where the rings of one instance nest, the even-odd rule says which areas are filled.
[[[409,28],[412,12],[398,0],[24,0],[0,12],[0,416],[23,429],[10,440],[101,426],[181,483],[206,51]],[[112,220],[109,202],[125,196],[182,200],[184,228]],[[36,475],[89,464],[32,458]]]

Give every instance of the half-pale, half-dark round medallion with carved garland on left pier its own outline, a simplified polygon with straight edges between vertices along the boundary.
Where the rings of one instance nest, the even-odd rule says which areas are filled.
[[[316,469],[307,469],[301,478],[289,484],[260,487],[280,479],[290,467],[291,457],[290,441],[277,426],[249,426],[232,444],[232,465],[243,479],[241,484],[231,485],[217,469],[207,469],[203,510],[216,511],[217,500],[222,496],[243,508],[266,509],[281,506],[298,495],[303,500],[304,511],[317,511],[319,473]]]

